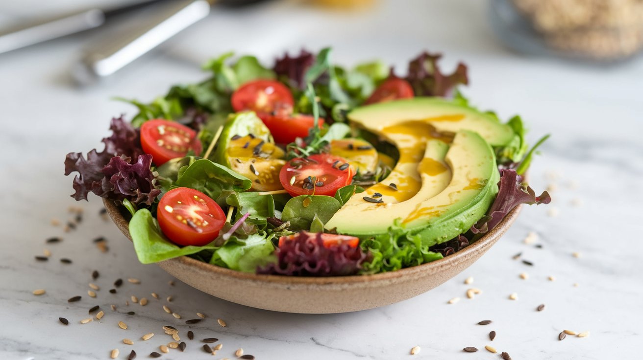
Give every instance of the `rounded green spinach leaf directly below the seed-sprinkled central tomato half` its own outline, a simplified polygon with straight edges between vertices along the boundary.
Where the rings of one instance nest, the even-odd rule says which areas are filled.
[[[315,217],[327,223],[340,207],[340,201],[331,196],[300,195],[285,204],[282,221],[290,221],[291,230],[309,230]]]

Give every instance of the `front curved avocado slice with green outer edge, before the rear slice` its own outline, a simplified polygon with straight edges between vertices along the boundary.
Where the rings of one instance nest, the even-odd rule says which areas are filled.
[[[422,159],[413,166],[421,176],[421,187],[414,196],[395,202],[395,196],[379,192],[388,187],[387,178],[350,198],[325,228],[370,237],[387,232],[400,219],[431,246],[465,232],[484,216],[498,193],[500,175],[493,149],[475,132],[457,132],[450,146],[437,139],[426,141]],[[382,202],[365,201],[363,196]]]

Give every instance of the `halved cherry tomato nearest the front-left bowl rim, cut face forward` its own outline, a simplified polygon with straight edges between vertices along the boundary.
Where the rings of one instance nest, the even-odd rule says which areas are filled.
[[[214,200],[189,187],[165,193],[156,218],[163,234],[179,245],[209,244],[226,223],[226,215]]]

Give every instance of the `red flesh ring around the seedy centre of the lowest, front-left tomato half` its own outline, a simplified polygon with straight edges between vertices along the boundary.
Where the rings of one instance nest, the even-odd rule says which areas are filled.
[[[203,210],[203,207],[199,205],[199,201],[194,200],[194,196],[204,200],[204,203],[201,203],[201,205],[204,205],[206,210]],[[212,214],[212,217],[203,214],[204,216],[208,216],[208,225],[204,227],[197,226],[201,228],[201,232],[197,232],[194,228],[179,221],[176,216],[181,215],[179,214],[181,208],[176,201],[181,201],[186,206],[194,205],[200,207],[200,212]],[[167,206],[172,207],[173,211],[168,212],[166,209]],[[185,213],[183,215],[185,215]],[[219,231],[226,223],[226,215],[214,200],[206,194],[201,193],[201,191],[188,187],[177,187],[165,193],[161,201],[159,201],[156,218],[163,234],[173,243],[183,246],[203,246],[211,243],[219,236]]]

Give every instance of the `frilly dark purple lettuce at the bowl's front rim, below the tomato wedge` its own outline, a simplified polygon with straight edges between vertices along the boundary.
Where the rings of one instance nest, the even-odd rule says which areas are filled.
[[[257,273],[294,276],[356,275],[367,261],[367,253],[349,244],[325,247],[320,233],[302,231],[275,250],[277,262]]]

